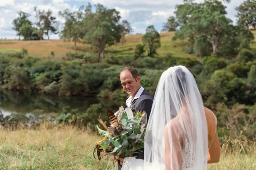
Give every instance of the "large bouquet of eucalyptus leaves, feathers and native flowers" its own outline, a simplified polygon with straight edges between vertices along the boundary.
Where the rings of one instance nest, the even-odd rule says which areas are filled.
[[[144,148],[144,135],[146,131],[147,115],[145,111],[135,112],[133,109],[121,106],[118,110],[117,117],[107,109],[108,118],[111,126],[107,127],[102,119],[98,119],[100,124],[105,128],[102,130],[98,127],[98,133],[102,140],[95,145],[94,152],[97,152],[98,159],[101,160],[106,156],[111,156],[114,160],[120,157],[130,157],[134,153]],[[95,155],[94,155],[94,158]]]

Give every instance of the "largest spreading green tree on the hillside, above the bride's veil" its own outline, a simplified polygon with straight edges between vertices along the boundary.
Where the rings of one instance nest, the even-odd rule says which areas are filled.
[[[173,40],[189,38],[193,47],[196,39],[203,37],[212,45],[213,53],[218,53],[221,47],[226,46],[227,42],[230,43],[228,40],[237,29],[232,25],[232,20],[226,18],[226,7],[219,0],[205,0],[199,4],[185,2],[176,6],[175,14],[181,27],[176,31]]]

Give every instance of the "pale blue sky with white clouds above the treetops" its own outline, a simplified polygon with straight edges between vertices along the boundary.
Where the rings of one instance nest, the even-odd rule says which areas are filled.
[[[236,23],[235,7],[239,6],[243,0],[231,0],[229,4],[224,3],[227,7],[227,17]],[[18,16],[18,11],[31,14],[29,20],[33,23],[34,7],[39,10],[52,10],[53,15],[59,21],[59,29],[62,29],[64,20],[58,17],[59,11],[69,9],[78,10],[82,5],[86,6],[90,2],[93,4],[103,4],[107,8],[115,8],[120,12],[121,20],[128,20],[131,23],[133,34],[145,33],[149,25],[160,31],[162,25],[167,21],[169,16],[174,16],[175,6],[182,4],[182,0],[0,0],[0,38],[18,39],[16,31],[12,30],[12,21]],[[203,2],[203,0],[195,0]],[[59,39],[59,35],[51,35],[50,39]]]

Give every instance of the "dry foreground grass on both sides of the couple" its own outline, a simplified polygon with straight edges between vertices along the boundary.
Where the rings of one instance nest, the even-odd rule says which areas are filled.
[[[21,129],[2,131],[0,135],[1,170],[112,170],[117,169],[112,162],[100,162],[93,158],[94,143],[100,139],[96,134],[71,126],[46,129],[46,124],[38,130]],[[229,141],[235,143],[236,141]],[[243,149],[233,152],[228,143],[222,147],[222,156],[217,164],[209,164],[208,170],[255,170],[256,145],[242,144],[243,149],[250,147],[247,154]],[[226,156],[224,156],[224,154]],[[116,162],[115,162],[116,164]]]

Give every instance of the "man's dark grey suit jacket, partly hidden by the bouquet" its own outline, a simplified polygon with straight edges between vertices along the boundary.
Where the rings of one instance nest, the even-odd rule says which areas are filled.
[[[140,97],[132,101],[131,106],[134,108],[135,111],[146,111],[147,117],[149,118],[153,99],[153,96],[144,89]],[[136,153],[133,156],[136,156],[137,159],[144,159],[144,149],[142,149],[142,152]],[[121,168],[122,166],[120,165],[120,161],[118,160],[118,170],[121,170]]]

